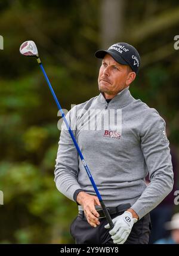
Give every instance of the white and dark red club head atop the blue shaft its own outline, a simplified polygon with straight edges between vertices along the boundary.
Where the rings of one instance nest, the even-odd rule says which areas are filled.
[[[36,48],[35,42],[26,41],[20,45],[20,53],[27,57],[38,57],[38,50]]]

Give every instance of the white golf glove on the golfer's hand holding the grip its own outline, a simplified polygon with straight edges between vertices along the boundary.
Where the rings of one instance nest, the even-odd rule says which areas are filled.
[[[131,233],[134,223],[137,222],[137,218],[132,218],[131,212],[125,211],[124,214],[113,218],[112,221],[114,223],[114,227],[109,233],[112,236],[111,238],[113,239],[113,243],[125,243],[129,233]],[[104,227],[105,229],[110,229],[109,224]]]

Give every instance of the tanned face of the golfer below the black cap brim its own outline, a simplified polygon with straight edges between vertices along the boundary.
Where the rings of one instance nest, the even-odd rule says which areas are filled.
[[[129,77],[130,74],[132,78]],[[135,73],[129,72],[129,66],[119,64],[109,54],[104,56],[98,75],[98,87],[106,98],[113,98],[134,79]]]

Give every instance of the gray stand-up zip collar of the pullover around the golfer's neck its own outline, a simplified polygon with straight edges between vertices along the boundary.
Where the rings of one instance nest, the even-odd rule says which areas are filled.
[[[97,100],[101,104],[107,104],[106,98],[104,98],[102,93],[98,95]],[[126,87],[124,90],[119,92],[115,97],[113,97],[108,104],[109,106],[125,107],[132,101],[134,101],[134,98],[132,97],[131,92],[129,92],[129,87]]]

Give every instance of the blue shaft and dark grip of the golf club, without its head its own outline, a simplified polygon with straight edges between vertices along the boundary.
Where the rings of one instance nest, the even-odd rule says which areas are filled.
[[[74,135],[73,135],[72,129],[70,128],[70,126],[69,126],[69,124],[68,124],[68,122],[67,122],[67,119],[66,119],[66,117],[65,117],[65,115],[64,115],[64,112],[63,112],[63,110],[61,109],[60,103],[58,102],[57,96],[55,95],[55,92],[54,92],[54,90],[53,90],[53,87],[51,86],[51,83],[50,83],[50,81],[49,81],[49,79],[48,79],[48,76],[47,76],[45,70],[44,70],[44,67],[42,66],[41,61],[40,61],[39,59],[37,59],[37,60],[38,60],[39,66],[40,66],[41,69],[42,69],[42,72],[44,73],[45,80],[47,81],[47,84],[48,84],[48,87],[50,88],[51,94],[52,94],[53,97],[54,97],[55,103],[57,104],[57,107],[58,107],[58,109],[59,109],[60,112],[61,112],[61,116],[62,116],[62,118],[63,118],[63,120],[64,120],[64,122],[65,122],[65,124],[66,124],[67,129],[69,130],[69,134],[70,134],[70,136],[71,136],[71,138],[72,138],[72,140],[73,140],[73,143],[75,144],[76,150],[78,151],[78,154],[79,154],[79,156],[80,156],[80,158],[81,158],[82,164],[84,165],[84,168],[85,168],[85,170],[86,170],[86,172],[87,172],[87,174],[88,174],[88,177],[90,178],[91,184],[92,184],[92,186],[94,187],[95,193],[96,193],[96,195],[97,195],[97,197],[98,197],[98,199],[99,199],[99,201],[100,201],[100,203],[101,203],[101,207],[103,208],[104,215],[106,216],[107,221],[108,221],[108,223],[109,223],[109,225],[110,225],[110,228],[112,229],[113,226],[114,226],[114,224],[113,224],[112,219],[111,219],[111,217],[110,217],[110,215],[109,215],[109,212],[108,212],[107,209],[106,209],[106,206],[104,205],[104,202],[103,202],[103,199],[101,198],[100,192],[98,191],[97,186],[95,185],[95,182],[94,182],[94,180],[93,180],[93,178],[92,178],[90,169],[88,168],[88,165],[87,165],[87,163],[85,162],[84,156],[82,155],[82,152],[81,152],[81,150],[79,149],[78,143],[76,142],[76,139],[75,139],[75,137],[74,137]]]

